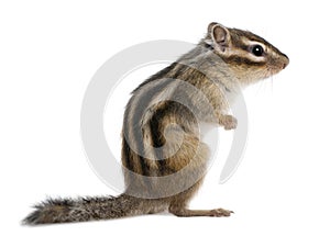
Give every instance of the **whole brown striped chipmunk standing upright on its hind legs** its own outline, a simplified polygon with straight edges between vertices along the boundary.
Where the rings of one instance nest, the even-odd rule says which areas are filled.
[[[119,218],[168,211],[176,216],[230,216],[224,209],[189,210],[206,175],[208,146],[200,123],[233,130],[229,97],[289,63],[264,38],[219,23],[187,54],[150,77],[125,108],[122,153],[125,191],[119,196],[51,199],[29,225]]]

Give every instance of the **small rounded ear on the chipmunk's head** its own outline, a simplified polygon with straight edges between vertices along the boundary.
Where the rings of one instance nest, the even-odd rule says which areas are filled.
[[[230,43],[230,33],[223,25],[212,22],[208,26],[208,34],[215,45],[218,45],[221,52],[224,52]]]

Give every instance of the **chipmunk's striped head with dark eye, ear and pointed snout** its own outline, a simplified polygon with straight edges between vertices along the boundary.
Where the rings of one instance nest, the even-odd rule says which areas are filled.
[[[289,63],[285,54],[264,38],[219,23],[209,24],[205,43],[213,48],[242,85],[273,76]]]

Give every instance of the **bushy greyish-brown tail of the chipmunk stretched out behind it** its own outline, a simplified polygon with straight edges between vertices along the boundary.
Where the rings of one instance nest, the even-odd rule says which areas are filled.
[[[23,224],[87,222],[140,215],[147,213],[144,201],[127,194],[76,200],[50,199],[35,205],[36,210],[23,220]]]

